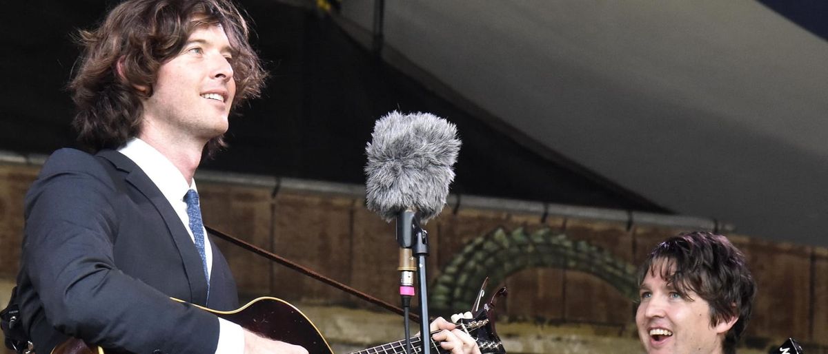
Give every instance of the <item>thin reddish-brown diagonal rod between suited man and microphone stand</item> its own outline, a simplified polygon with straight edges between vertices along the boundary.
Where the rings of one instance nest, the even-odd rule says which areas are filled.
[[[301,266],[301,265],[299,265],[298,263],[296,263],[294,261],[291,261],[291,260],[289,260],[289,259],[287,259],[283,256],[278,256],[277,254],[274,254],[271,251],[264,250],[261,247],[253,245],[252,243],[246,242],[242,239],[239,239],[238,237],[230,236],[227,233],[220,232],[219,230],[216,230],[213,227],[209,227],[207,225],[205,225],[205,228],[207,229],[207,232],[209,232],[210,234],[212,234],[214,236],[217,236],[221,239],[224,239],[227,242],[233,243],[233,245],[242,247],[245,250],[251,251],[251,252],[253,252],[253,253],[255,253],[259,256],[265,257],[270,261],[277,262],[278,264],[280,264],[282,266],[286,266],[286,267],[288,267],[292,270],[296,270],[296,271],[300,272],[303,275],[310,276],[311,278],[313,278],[315,280],[319,280],[319,281],[325,283],[326,285],[333,286],[336,289],[340,289],[340,290],[342,290],[342,291],[344,291],[348,294],[352,294],[352,295],[358,297],[359,299],[363,299],[365,301],[368,301],[371,304],[378,305],[379,307],[382,307],[383,309],[387,309],[388,311],[391,311],[392,313],[397,313],[399,315],[405,316],[405,312],[402,309],[400,309],[399,307],[394,306],[392,304],[388,304],[388,302],[383,301],[382,299],[377,299],[377,298],[375,298],[375,297],[373,297],[369,294],[363,293],[362,291],[351,288],[348,285],[344,285],[344,284],[340,283],[339,281],[330,279],[329,277],[327,277],[325,275],[321,275],[320,273],[317,273],[316,271],[311,270],[310,268],[307,268],[306,266]],[[408,318],[411,318],[411,320],[416,322],[416,323],[420,322],[420,316],[418,316],[414,313],[409,313]]]

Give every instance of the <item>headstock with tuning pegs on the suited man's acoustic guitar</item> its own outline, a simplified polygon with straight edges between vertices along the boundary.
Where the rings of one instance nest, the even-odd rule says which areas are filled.
[[[475,309],[476,311],[473,317],[460,319],[457,323],[457,326],[461,330],[465,330],[469,333],[469,336],[477,341],[481,353],[506,354],[506,349],[503,348],[503,343],[500,341],[498,333],[494,330],[494,304],[497,303],[499,297],[505,296],[506,294],[507,290],[504,286],[482,308],[479,308],[478,299],[474,304],[474,308],[477,309]],[[482,297],[482,295],[480,294],[479,297]]]

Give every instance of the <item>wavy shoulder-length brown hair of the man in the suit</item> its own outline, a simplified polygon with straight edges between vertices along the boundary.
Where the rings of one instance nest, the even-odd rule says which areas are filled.
[[[69,85],[78,110],[72,122],[78,140],[99,151],[137,136],[142,98],[152,96],[158,69],[180,54],[197,27],[207,25],[222,26],[233,49],[233,108],[257,97],[267,73],[248,43],[247,22],[232,2],[129,0],[113,8],[97,29],[79,31],[83,53]],[[219,136],[208,142],[205,152],[212,155],[223,146]]]

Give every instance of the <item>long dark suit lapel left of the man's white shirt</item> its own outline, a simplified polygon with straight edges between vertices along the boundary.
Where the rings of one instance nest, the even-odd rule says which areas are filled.
[[[161,190],[152,183],[152,179],[135,165],[132,160],[118,151],[104,150],[98,153],[99,156],[109,160],[118,170],[126,173],[124,180],[131,184],[143,194],[156,208],[166,223],[173,242],[175,242],[181,261],[184,265],[187,280],[190,281],[190,302],[193,304],[206,305],[207,303],[207,279],[205,278],[204,266],[201,256],[195,248],[190,234],[187,232],[181,218],[166,200]],[[214,248],[215,249],[215,248]]]

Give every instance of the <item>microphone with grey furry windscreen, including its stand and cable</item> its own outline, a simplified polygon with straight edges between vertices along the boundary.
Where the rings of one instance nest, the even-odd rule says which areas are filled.
[[[419,268],[421,333],[428,328],[426,294],[426,231],[420,227],[436,217],[445,205],[449,184],[455,179],[452,165],[457,161],[460,139],[457,128],[431,113],[390,112],[378,119],[365,146],[366,204],[390,222],[397,220],[400,244],[400,298],[406,313],[406,347],[411,351],[408,308],[414,296],[414,271]],[[414,256],[417,256],[417,266]],[[422,341],[422,353],[431,349]]]

